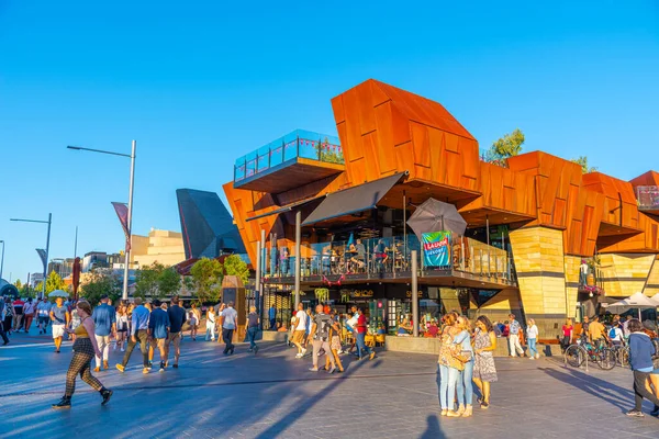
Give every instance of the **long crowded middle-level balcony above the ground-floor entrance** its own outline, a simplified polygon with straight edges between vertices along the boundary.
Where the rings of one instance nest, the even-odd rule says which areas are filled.
[[[295,256],[288,247],[266,246],[264,281],[270,284],[294,282]],[[350,252],[348,241],[302,246],[301,282],[305,285],[340,286],[372,281],[410,282],[412,250],[416,250],[418,279],[422,283],[476,289],[516,286],[513,261],[500,248],[476,239],[455,236],[449,246],[449,264],[425,267],[415,235],[356,241]]]

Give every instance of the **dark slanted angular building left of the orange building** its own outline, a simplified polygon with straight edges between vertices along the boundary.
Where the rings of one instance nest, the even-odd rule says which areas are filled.
[[[186,259],[246,252],[232,216],[215,192],[178,189],[176,196]]]

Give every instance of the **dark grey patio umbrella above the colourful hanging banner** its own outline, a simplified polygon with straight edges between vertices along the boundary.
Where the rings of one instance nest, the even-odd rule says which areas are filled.
[[[424,233],[450,230],[456,235],[463,235],[467,229],[467,222],[455,205],[435,199],[427,199],[416,207],[407,219],[407,225],[412,227],[418,240],[422,240]]]

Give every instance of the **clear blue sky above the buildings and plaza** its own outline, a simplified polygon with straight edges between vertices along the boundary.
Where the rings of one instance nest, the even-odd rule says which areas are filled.
[[[118,251],[180,229],[177,188],[217,191],[233,162],[301,127],[336,132],[330,99],[376,78],[443,103],[487,147],[587,155],[622,179],[659,170],[659,3],[0,0],[0,239],[4,278],[52,257]],[[455,2],[454,2],[455,3]],[[505,4],[505,7],[503,5]]]

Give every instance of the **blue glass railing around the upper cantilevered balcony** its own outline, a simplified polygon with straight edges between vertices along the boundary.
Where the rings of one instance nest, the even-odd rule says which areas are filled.
[[[238,158],[234,165],[234,181],[256,176],[298,157],[328,164],[344,164],[338,137],[297,130]]]

